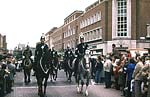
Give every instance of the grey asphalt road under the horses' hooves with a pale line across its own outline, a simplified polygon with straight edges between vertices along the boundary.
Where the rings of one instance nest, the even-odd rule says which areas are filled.
[[[5,97],[39,97],[37,94],[37,84],[34,76],[31,76],[31,83],[24,84],[23,72],[17,72],[15,76],[14,91],[5,95]],[[48,80],[47,97],[85,97],[84,93],[79,94],[76,91],[76,83],[73,81],[67,82],[63,70],[58,72],[56,82]],[[121,97],[121,92],[115,89],[106,89],[104,84],[89,86],[88,97]]]

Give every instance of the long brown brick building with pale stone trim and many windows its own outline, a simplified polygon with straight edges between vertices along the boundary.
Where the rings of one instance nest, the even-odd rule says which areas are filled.
[[[59,44],[59,49],[65,49],[67,44],[75,48],[82,33],[93,54],[110,53],[113,43],[120,51],[150,49],[149,12],[150,0],[99,0],[84,12],[74,11],[66,17],[60,30],[51,34],[58,39],[51,40],[59,40],[52,42]]]

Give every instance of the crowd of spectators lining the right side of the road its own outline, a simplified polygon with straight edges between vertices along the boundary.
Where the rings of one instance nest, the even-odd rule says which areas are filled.
[[[121,90],[125,97],[150,97],[150,56],[120,54],[112,45],[112,53],[97,57],[95,83]]]

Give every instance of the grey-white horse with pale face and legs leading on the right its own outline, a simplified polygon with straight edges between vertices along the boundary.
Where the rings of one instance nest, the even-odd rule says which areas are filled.
[[[90,50],[85,51],[85,55],[79,60],[78,65],[76,63],[77,62],[75,58],[73,61],[73,67],[77,66],[77,71],[75,74],[75,79],[77,83],[77,93],[83,93],[83,86],[86,81],[85,96],[88,96],[88,86],[91,78]],[[79,87],[80,84],[81,84],[81,89]]]

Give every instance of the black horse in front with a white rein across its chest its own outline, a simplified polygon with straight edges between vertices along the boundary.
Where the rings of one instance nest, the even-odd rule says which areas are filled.
[[[35,76],[38,84],[38,95],[40,97],[46,97],[47,80],[50,73],[50,55],[49,52],[42,54],[40,60],[36,62]],[[44,81],[44,92],[43,92]]]

